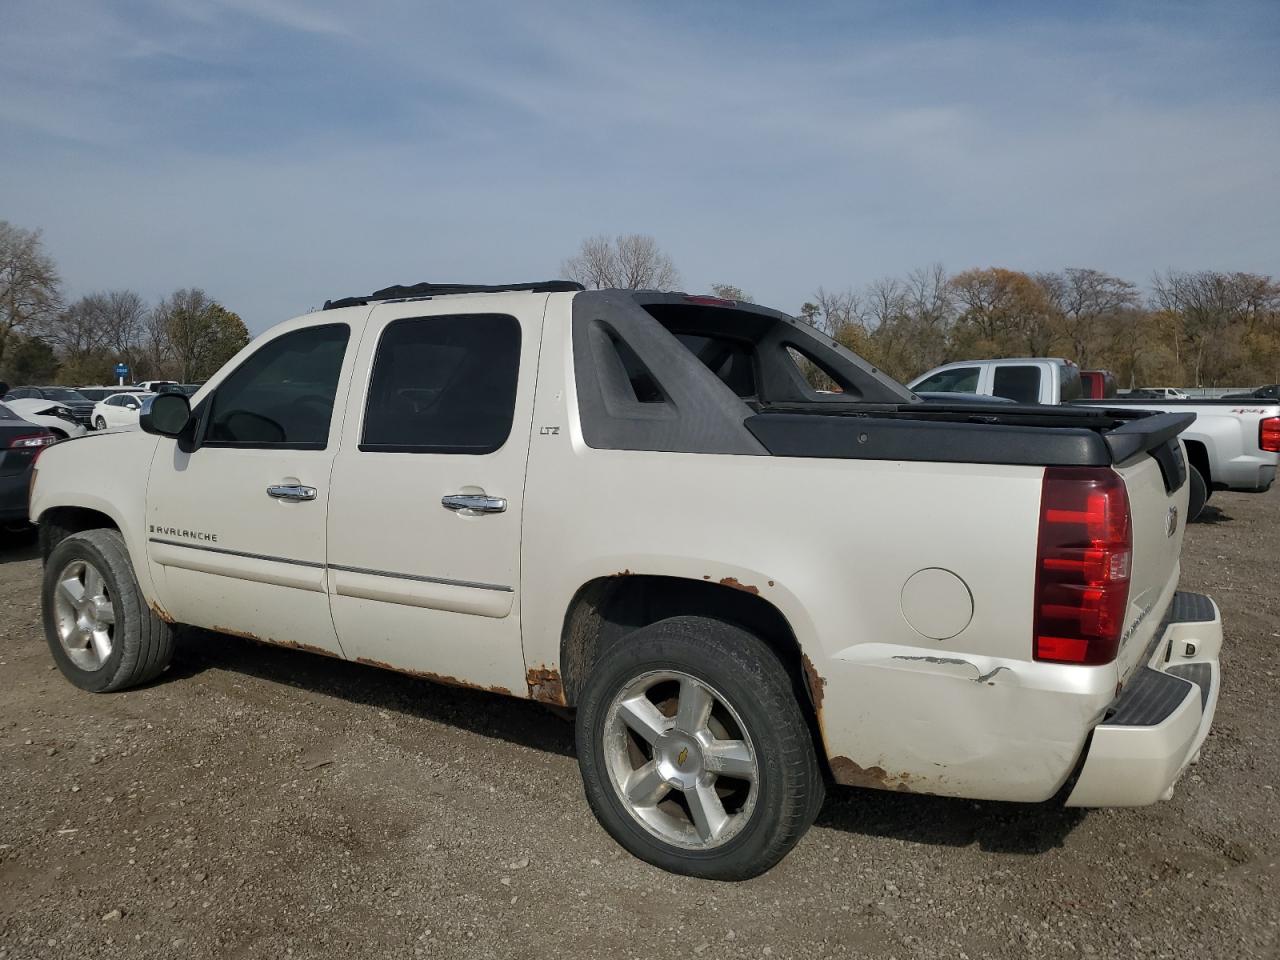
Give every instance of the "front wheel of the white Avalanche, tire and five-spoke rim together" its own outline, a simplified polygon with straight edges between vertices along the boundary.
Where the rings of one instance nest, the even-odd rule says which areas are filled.
[[[147,607],[115,530],[86,530],[58,544],[45,562],[41,599],[54,662],[82,690],[145,684],[173,657],[173,628]]]

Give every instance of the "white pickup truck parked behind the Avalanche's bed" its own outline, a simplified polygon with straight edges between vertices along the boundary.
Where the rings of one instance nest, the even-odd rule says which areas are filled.
[[[1082,399],[1075,364],[1052,357],[961,360],[929,370],[911,381],[916,392],[947,390],[1006,397],[1019,403],[1093,403],[1114,410],[1142,407],[1194,413],[1181,439],[1192,467],[1188,520],[1204,508],[1213,490],[1266,493],[1280,463],[1280,401],[1222,399]]]

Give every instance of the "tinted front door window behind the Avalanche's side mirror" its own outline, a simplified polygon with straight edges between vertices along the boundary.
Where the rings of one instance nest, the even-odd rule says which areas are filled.
[[[205,443],[324,449],[348,334],[310,326],[257,349],[214,393]]]

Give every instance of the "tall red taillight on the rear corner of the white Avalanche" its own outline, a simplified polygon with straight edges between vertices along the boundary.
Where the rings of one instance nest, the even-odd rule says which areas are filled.
[[[1124,480],[1106,467],[1048,467],[1036,552],[1037,660],[1115,659],[1132,562]]]

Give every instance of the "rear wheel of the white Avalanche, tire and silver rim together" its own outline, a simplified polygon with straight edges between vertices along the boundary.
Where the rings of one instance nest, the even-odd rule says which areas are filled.
[[[746,879],[809,828],[823,781],[791,680],[763,641],[672,617],[604,652],[577,710],[600,824],[673,873]]]

